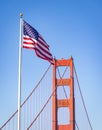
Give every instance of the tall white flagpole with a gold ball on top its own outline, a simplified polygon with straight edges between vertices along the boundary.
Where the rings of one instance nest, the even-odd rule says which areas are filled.
[[[21,67],[22,67],[22,38],[23,38],[23,20],[20,13],[20,41],[19,41],[19,68],[18,68],[18,130],[21,130]]]

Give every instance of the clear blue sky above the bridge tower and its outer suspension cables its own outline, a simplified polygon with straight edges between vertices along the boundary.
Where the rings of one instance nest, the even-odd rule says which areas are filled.
[[[93,130],[102,129],[101,0],[1,1],[0,126],[17,109],[20,12],[42,34],[57,59],[73,56]],[[22,100],[48,65],[33,51],[23,51]]]

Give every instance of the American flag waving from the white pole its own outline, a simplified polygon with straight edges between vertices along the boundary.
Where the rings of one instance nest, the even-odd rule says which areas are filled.
[[[34,49],[38,57],[48,60],[53,64],[53,56],[50,53],[49,45],[42,36],[31,25],[23,20],[23,48]]]

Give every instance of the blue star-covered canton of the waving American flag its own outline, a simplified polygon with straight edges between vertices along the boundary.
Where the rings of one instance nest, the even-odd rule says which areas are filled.
[[[25,22],[25,21],[23,21],[23,22],[24,22],[23,23],[23,34],[38,40],[39,34],[36,31],[36,29],[34,29],[32,26],[30,26],[27,22]]]

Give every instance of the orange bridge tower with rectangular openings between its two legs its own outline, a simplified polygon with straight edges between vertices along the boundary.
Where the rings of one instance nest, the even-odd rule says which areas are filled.
[[[57,67],[69,67],[68,78],[57,78]],[[69,97],[66,99],[57,98],[58,87],[69,87]],[[73,80],[73,58],[70,59],[54,59],[53,65],[53,86],[54,92],[52,97],[52,130],[75,130],[75,105],[74,105],[74,80]],[[65,114],[69,118],[69,122],[66,124],[58,123],[58,109],[68,108],[69,114]],[[63,115],[62,115],[63,117]]]

